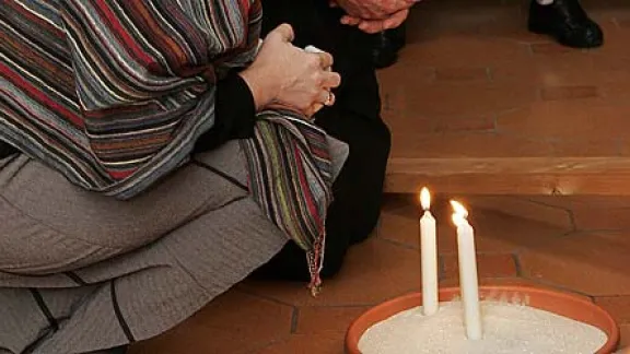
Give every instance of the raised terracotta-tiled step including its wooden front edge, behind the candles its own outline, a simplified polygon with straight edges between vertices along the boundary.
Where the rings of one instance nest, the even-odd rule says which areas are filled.
[[[630,194],[630,7],[583,1],[605,45],[574,50],[529,34],[527,3],[425,0],[412,11],[398,64],[380,72],[389,191],[610,193],[597,173],[567,175],[621,168],[614,190]],[[512,182],[493,174],[506,169]]]

